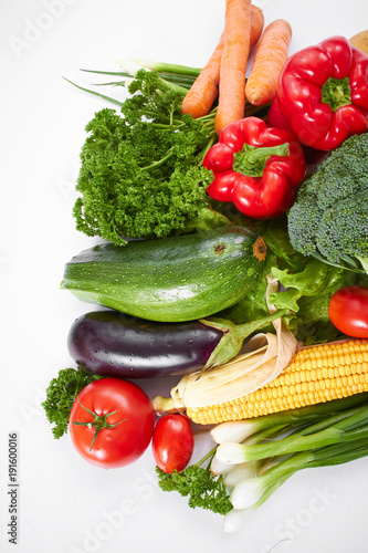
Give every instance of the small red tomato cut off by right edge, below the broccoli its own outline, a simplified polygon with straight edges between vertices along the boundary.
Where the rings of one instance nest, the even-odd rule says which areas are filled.
[[[368,338],[368,288],[343,286],[332,296],[328,316],[344,334]]]

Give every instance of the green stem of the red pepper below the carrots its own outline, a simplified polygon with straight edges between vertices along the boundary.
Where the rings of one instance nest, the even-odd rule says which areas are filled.
[[[271,156],[288,156],[288,143],[269,147],[244,144],[242,149],[234,154],[233,169],[249,177],[262,177]]]

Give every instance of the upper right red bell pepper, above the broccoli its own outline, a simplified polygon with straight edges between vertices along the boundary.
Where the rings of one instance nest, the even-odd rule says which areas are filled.
[[[368,128],[368,56],[344,36],[301,50],[284,65],[277,98],[302,143],[334,149]]]

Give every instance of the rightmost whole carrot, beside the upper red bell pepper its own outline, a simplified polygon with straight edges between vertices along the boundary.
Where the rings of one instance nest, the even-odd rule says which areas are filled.
[[[291,40],[292,28],[284,19],[276,19],[265,28],[245,85],[245,97],[251,104],[263,105],[275,97]]]

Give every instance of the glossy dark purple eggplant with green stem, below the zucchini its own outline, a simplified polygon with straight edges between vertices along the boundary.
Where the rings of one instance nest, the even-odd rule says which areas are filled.
[[[95,311],[73,323],[67,345],[77,365],[93,375],[183,375],[229,361],[250,334],[277,316],[280,312],[241,325],[219,317],[155,323],[117,311]]]

